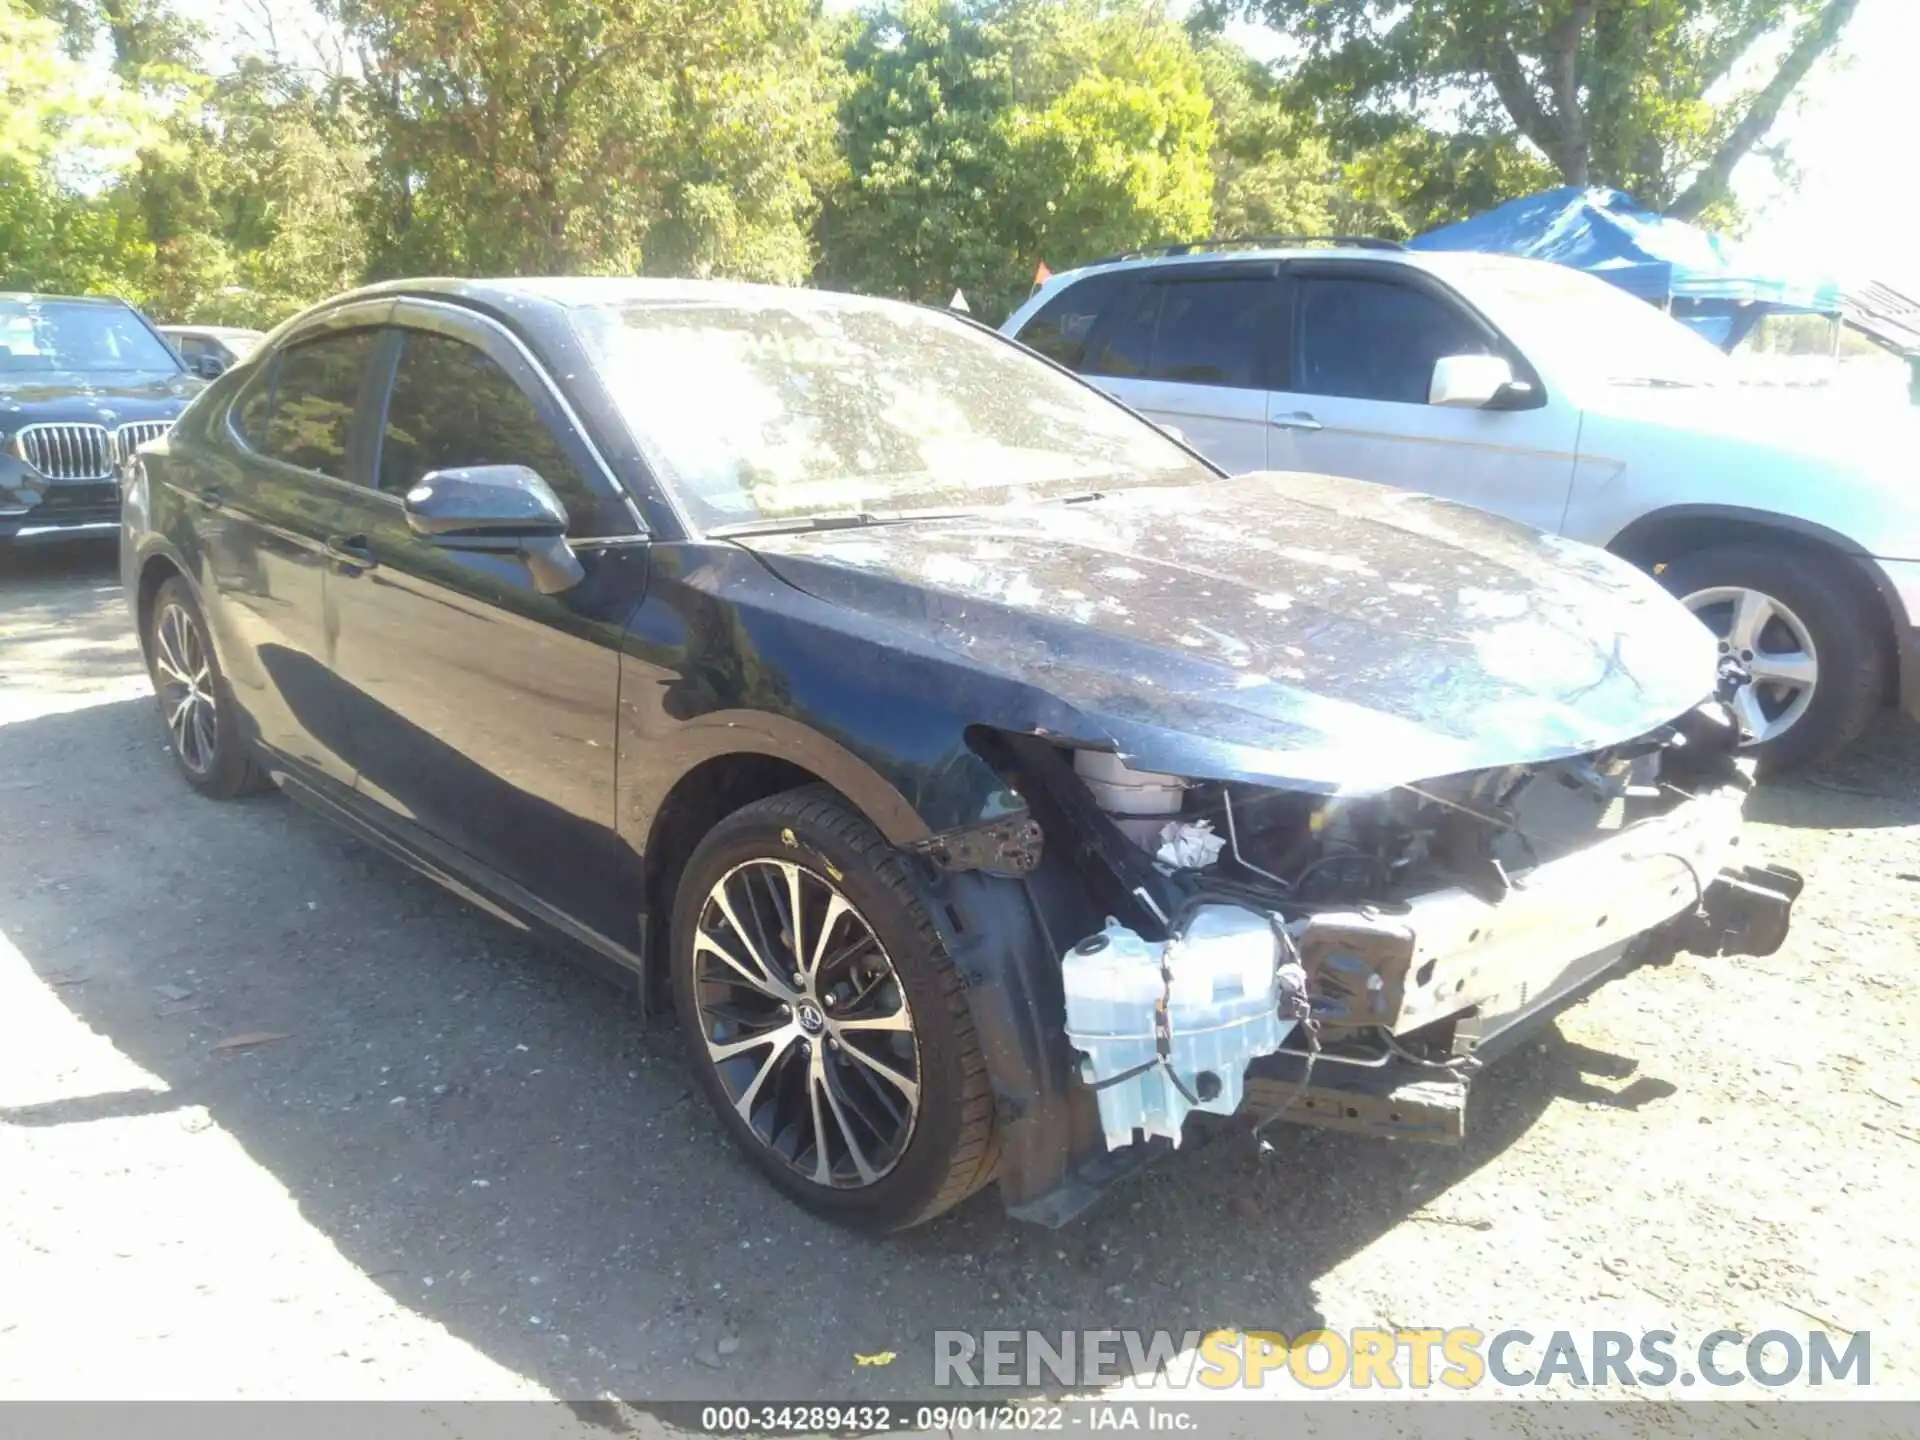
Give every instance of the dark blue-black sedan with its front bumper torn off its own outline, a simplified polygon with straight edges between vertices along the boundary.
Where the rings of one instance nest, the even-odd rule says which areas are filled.
[[[1198,1123],[1459,1140],[1528,1025],[1799,889],[1728,864],[1743,676],[1655,582],[1225,478],[945,313],[386,284],[123,486],[194,789],[634,977],[866,1227],[993,1181],[1060,1223]]]

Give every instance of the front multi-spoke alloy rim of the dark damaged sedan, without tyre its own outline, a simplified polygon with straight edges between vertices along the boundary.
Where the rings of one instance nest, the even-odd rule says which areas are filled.
[[[728,1104],[814,1185],[862,1188],[906,1152],[920,1044],[874,927],[826,877],[747,860],[693,935],[701,1039]]]

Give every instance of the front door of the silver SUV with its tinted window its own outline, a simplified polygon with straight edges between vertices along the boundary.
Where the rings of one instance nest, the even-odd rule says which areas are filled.
[[[1580,411],[1438,280],[1380,261],[1290,261],[1292,324],[1269,403],[1275,468],[1421,490],[1559,530]],[[1434,361],[1505,355],[1530,409],[1428,405]]]

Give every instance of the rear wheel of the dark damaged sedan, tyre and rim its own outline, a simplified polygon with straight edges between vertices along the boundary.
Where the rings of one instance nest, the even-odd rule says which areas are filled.
[[[167,747],[186,783],[217,801],[273,789],[242,730],[200,601],[180,576],[154,595],[142,641]]]

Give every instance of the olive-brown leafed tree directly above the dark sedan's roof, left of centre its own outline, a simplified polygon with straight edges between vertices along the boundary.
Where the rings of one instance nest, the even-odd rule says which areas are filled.
[[[374,273],[799,280],[831,159],[814,0],[330,0]]]

